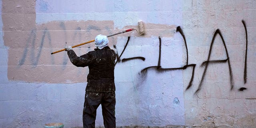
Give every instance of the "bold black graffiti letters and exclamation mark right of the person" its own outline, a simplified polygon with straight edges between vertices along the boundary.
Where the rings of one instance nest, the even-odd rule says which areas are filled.
[[[246,54],[245,54],[245,63],[244,63],[244,84],[246,84],[246,80],[247,80],[247,47],[248,47],[248,37],[247,37],[247,29],[246,29],[246,25],[245,25],[244,20],[242,20],[242,23],[243,23],[243,25],[244,25],[245,32],[246,32]],[[157,65],[157,66],[149,66],[149,67],[146,67],[146,68],[142,69],[142,70],[139,72],[139,74],[140,74],[141,78],[145,78],[146,75],[147,75],[148,70],[155,70],[156,72],[166,72],[166,71],[172,71],[172,70],[185,70],[185,69],[188,68],[188,67],[192,67],[192,75],[191,75],[191,78],[190,78],[190,82],[189,82],[189,84],[188,84],[188,86],[187,86],[187,88],[186,88],[186,90],[188,90],[188,89],[191,88],[191,86],[192,86],[192,82],[193,82],[193,79],[194,79],[194,71],[195,71],[196,64],[188,64],[188,47],[187,47],[187,42],[186,42],[185,35],[184,35],[184,33],[183,33],[183,31],[182,31],[182,29],[181,29],[180,26],[177,27],[176,32],[179,32],[179,33],[182,35],[183,39],[184,39],[184,44],[185,44],[185,46],[186,46],[186,56],[187,56],[187,57],[186,57],[186,65],[183,66],[183,67],[179,67],[179,68],[162,68],[162,67],[161,67],[161,64],[160,64],[160,62],[161,62],[161,38],[160,38],[160,36],[159,36],[159,56],[158,56],[158,65]],[[215,38],[216,38],[217,35],[219,35],[220,38],[221,38],[221,40],[222,40],[222,44],[223,44],[223,46],[224,46],[224,48],[225,48],[226,59],[223,59],[223,60],[210,60],[210,56],[211,56],[211,53],[212,53],[212,47],[213,47],[214,40],[215,40]],[[127,42],[126,42],[126,45],[125,45],[124,49],[122,50],[121,55],[118,56],[118,60],[116,61],[116,63],[117,63],[117,62],[120,62],[120,57],[122,56],[124,50],[126,49],[126,47],[127,47],[127,45],[128,45],[128,42],[129,42],[129,39],[130,39],[130,37],[128,37],[128,40],[127,40]],[[115,47],[115,48],[116,48],[116,47]],[[143,61],[145,60],[144,57],[133,57],[133,58],[124,58],[124,59],[122,60],[122,62],[126,62],[126,61],[128,61],[128,60],[134,60],[134,59],[141,59],[141,60],[143,60]],[[201,64],[201,66],[204,66],[204,72],[203,72],[203,74],[202,74],[202,78],[201,78],[201,80],[200,80],[200,84],[199,84],[199,86],[198,86],[198,88],[197,88],[195,94],[198,93],[198,92],[200,91],[200,89],[202,88],[202,84],[203,84],[204,78],[205,78],[205,76],[206,76],[206,71],[207,71],[207,69],[208,69],[209,64],[220,64],[220,63],[223,63],[223,64],[226,64],[226,63],[227,63],[227,64],[228,64],[229,78],[230,78],[230,80],[229,80],[229,81],[230,81],[230,90],[233,90],[233,88],[234,88],[234,80],[233,80],[233,73],[232,73],[232,68],[231,68],[231,64],[230,64],[230,58],[229,58],[229,55],[228,55],[228,49],[227,49],[227,47],[226,47],[226,42],[225,42],[225,40],[224,40],[224,38],[223,38],[223,36],[222,36],[222,33],[220,32],[219,29],[217,29],[217,30],[214,32],[214,36],[213,36],[212,42],[211,42],[211,44],[210,44],[210,50],[209,50],[209,54],[208,54],[208,59],[207,59],[207,61],[204,61],[204,62],[202,62],[202,64]],[[143,79],[142,79],[142,80],[143,80]],[[246,89],[247,89],[247,88],[242,87],[242,88],[240,88],[240,89],[238,89],[238,90],[239,90],[239,91],[243,91],[243,90],[246,90]]]

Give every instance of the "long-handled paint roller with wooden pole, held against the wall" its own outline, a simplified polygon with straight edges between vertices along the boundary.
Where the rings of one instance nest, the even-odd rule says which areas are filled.
[[[143,35],[145,34],[145,30],[144,30],[144,23],[142,21],[138,22],[138,26],[139,26],[139,30],[136,30],[134,28],[131,28],[131,29],[127,29],[127,30],[124,30],[122,32],[118,32],[118,33],[115,33],[115,34],[112,34],[112,35],[108,35],[108,37],[110,36],[115,36],[115,35],[118,35],[118,34],[122,34],[122,33],[125,33],[125,32],[130,32],[130,31],[133,31],[133,30],[136,30],[136,32],[138,32],[139,35]],[[78,44],[78,45],[75,45],[75,46],[72,46],[72,48],[75,48],[75,47],[78,47],[78,46],[81,46],[81,45],[84,45],[84,44],[88,44],[88,43],[91,43],[91,42],[94,42],[95,40],[90,40],[88,42],[84,42],[82,44]],[[55,54],[55,53],[58,53],[58,52],[62,52],[62,51],[65,51],[65,48],[62,49],[62,50],[58,50],[56,52],[52,52],[51,54]]]

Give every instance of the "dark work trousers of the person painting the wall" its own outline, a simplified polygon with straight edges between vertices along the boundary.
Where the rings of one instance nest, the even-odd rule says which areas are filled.
[[[102,116],[105,128],[116,128],[115,92],[87,92],[84,98],[83,124],[84,128],[95,128],[96,110],[102,106]]]

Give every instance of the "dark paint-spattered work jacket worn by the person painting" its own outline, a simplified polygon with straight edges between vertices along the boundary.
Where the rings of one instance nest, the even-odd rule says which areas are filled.
[[[108,46],[94,49],[82,56],[76,56],[73,50],[68,50],[68,57],[77,67],[88,66],[86,91],[88,92],[114,92],[114,67],[116,53]]]

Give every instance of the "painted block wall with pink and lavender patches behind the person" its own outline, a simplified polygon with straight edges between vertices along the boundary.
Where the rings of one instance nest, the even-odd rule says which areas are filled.
[[[117,126],[256,126],[255,0],[1,0],[0,127],[82,126],[88,68],[65,46],[109,38]],[[94,43],[73,48],[78,55]],[[104,126],[101,108],[96,126]]]

